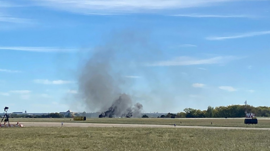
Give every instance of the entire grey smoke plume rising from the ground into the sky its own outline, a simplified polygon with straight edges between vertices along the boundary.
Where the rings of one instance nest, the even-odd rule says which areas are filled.
[[[123,91],[123,86],[128,83],[121,70],[118,70],[124,60],[122,52],[126,49],[128,47],[125,42],[109,42],[95,48],[81,68],[78,92],[82,95],[86,107],[102,112],[102,117],[141,116],[142,105],[134,105],[131,96]]]

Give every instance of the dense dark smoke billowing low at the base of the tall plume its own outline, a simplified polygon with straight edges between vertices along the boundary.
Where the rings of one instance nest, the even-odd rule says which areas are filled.
[[[131,118],[140,116],[142,110],[142,104],[136,103],[134,107],[129,107],[131,99],[128,95],[122,94],[117,100],[115,100],[111,107],[105,112],[99,115],[99,118],[113,118],[113,117],[126,117]]]

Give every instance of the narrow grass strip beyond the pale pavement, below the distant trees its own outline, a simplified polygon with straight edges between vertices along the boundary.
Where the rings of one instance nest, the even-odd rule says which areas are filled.
[[[164,124],[184,126],[223,126],[223,127],[270,127],[270,119],[258,119],[258,124],[246,125],[244,119],[171,119],[171,118],[87,118],[86,121],[73,121],[71,118],[10,118],[11,122],[87,122],[115,124]],[[211,122],[213,124],[211,124]]]

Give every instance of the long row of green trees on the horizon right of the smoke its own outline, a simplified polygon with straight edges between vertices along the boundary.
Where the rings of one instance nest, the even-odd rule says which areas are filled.
[[[167,115],[161,115],[160,118],[241,118],[246,117],[246,110],[247,113],[254,113],[258,117],[270,117],[270,107],[247,105],[245,108],[245,105],[229,105],[215,108],[208,106],[207,110],[186,108],[184,112],[178,112],[177,114],[168,113]]]

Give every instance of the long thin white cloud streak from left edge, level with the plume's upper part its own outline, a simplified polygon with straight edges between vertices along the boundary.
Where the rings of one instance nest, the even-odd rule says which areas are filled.
[[[0,46],[0,50],[17,50],[29,52],[74,52],[75,48],[60,48],[60,47],[6,47]]]

